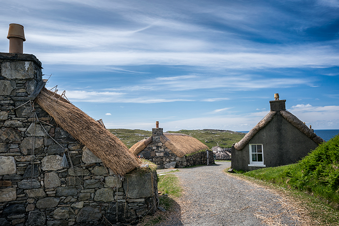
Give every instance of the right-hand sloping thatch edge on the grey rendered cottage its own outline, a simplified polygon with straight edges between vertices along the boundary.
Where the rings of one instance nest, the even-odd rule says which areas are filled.
[[[295,117],[292,113],[282,110],[280,111],[281,116],[290,122],[295,128],[303,132],[306,136],[312,139],[316,144],[321,144],[324,142],[323,138],[317,136],[312,129],[309,129],[302,121]]]

